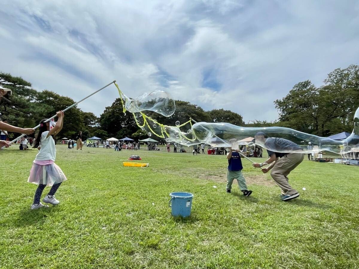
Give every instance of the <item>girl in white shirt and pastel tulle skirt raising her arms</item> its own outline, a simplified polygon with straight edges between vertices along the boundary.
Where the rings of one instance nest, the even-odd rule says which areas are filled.
[[[32,165],[28,182],[38,184],[39,186],[35,192],[34,203],[31,209],[48,207],[40,203],[42,191],[46,186],[52,186],[52,188],[42,201],[54,205],[60,203],[59,200],[55,199],[55,193],[62,181],[66,180],[66,176],[54,162],[56,158],[56,148],[53,136],[57,135],[62,129],[64,112],[59,111],[56,115],[59,119],[57,119],[55,127],[50,129],[50,124],[45,122],[46,119],[43,119],[40,122],[39,133],[35,138],[33,147],[39,148],[40,150]]]

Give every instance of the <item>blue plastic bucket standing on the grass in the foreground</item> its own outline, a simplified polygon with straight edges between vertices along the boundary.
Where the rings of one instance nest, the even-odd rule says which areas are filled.
[[[169,200],[168,206],[172,209],[172,216],[190,216],[193,198],[192,193],[172,192],[169,196],[171,196],[171,200]]]

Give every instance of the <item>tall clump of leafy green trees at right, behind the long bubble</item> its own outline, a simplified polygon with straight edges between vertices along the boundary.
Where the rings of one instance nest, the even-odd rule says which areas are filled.
[[[288,127],[320,136],[353,129],[359,106],[359,66],[336,69],[316,88],[311,81],[294,85],[283,99],[276,100],[279,120]]]

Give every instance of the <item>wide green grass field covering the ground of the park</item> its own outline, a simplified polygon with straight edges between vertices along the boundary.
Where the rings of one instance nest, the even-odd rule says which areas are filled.
[[[359,266],[359,167],[304,159],[289,175],[300,197],[282,202],[247,160],[245,198],[236,182],[225,192],[224,156],[141,150],[150,165],[137,168],[122,166],[134,151],[59,145],[61,203],[31,211],[36,153],[0,152],[0,268]],[[171,217],[175,191],[194,194],[191,217]]]

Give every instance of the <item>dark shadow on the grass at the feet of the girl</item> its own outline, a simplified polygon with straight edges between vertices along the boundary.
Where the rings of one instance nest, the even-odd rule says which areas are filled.
[[[18,218],[12,223],[16,227],[39,225],[50,217],[51,212],[58,211],[58,207],[40,208],[36,210],[23,209],[19,212]]]

